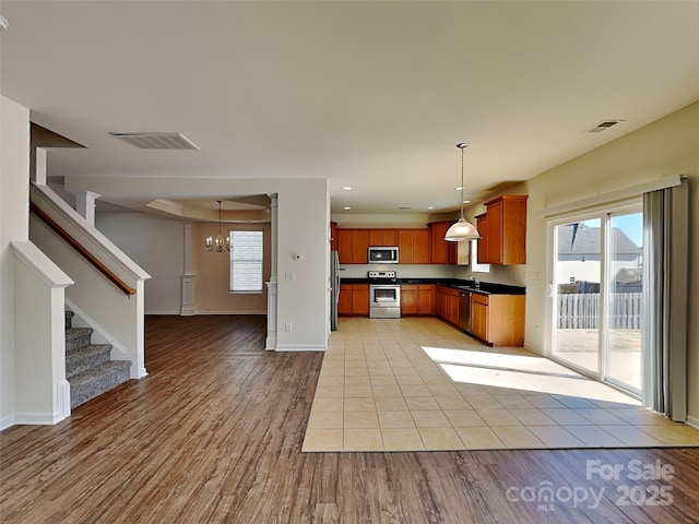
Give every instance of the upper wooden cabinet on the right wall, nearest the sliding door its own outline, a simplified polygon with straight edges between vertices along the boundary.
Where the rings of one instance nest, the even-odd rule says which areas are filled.
[[[485,203],[476,217],[478,263],[526,263],[526,195],[508,194]]]

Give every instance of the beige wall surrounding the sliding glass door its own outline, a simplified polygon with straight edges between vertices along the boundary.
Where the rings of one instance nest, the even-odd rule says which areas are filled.
[[[699,103],[546,171],[528,182],[526,341],[545,347],[546,210],[583,199],[604,200],[619,191],[664,177],[689,177],[688,413],[699,424]]]

